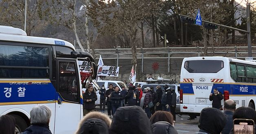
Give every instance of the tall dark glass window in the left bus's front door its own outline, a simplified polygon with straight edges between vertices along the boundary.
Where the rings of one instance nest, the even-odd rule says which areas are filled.
[[[59,93],[64,100],[79,102],[75,62],[59,62]]]

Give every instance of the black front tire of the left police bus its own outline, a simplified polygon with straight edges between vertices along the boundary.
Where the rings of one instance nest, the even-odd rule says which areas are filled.
[[[14,114],[11,114],[11,116],[14,117],[15,119],[15,131],[18,130],[18,132],[24,132],[24,130],[26,130],[26,128],[28,127],[27,124],[26,124],[26,121],[20,117],[19,115],[14,115]]]

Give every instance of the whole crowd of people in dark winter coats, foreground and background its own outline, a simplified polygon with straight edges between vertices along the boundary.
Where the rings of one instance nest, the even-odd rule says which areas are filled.
[[[83,94],[84,118],[77,126],[76,134],[178,134],[174,127],[176,120],[175,90],[168,85],[164,90],[157,86],[145,88],[143,107],[140,107],[142,89],[130,85],[129,90],[113,85],[99,90],[100,112],[95,111],[97,95],[93,86],[88,85]],[[221,111],[221,93],[214,89],[212,108],[204,108],[199,118],[199,134],[233,134],[234,119],[252,119],[256,123],[256,111],[250,107],[236,109],[234,100],[224,102]],[[108,106],[108,116],[104,114]],[[103,108],[102,108],[103,106]],[[47,106],[38,105],[30,111],[29,126],[22,134],[52,134],[49,129],[51,110]],[[112,120],[111,120],[112,119]],[[15,134],[15,119],[10,115],[0,117],[0,134]],[[124,127],[125,126],[125,127]]]

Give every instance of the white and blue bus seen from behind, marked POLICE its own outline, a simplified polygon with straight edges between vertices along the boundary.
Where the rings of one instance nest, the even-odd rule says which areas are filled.
[[[224,99],[236,102],[236,108],[255,109],[256,63],[229,57],[187,57],[181,66],[180,110],[199,115],[212,107],[209,96],[218,89]]]

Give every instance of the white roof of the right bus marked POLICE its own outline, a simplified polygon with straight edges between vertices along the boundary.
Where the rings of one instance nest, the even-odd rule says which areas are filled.
[[[238,62],[238,63],[244,63],[244,64],[251,64],[251,65],[256,65],[255,62],[252,61],[247,61],[247,60],[240,60],[240,59],[235,59],[235,58],[230,58],[230,57],[221,57],[221,56],[205,56],[205,57],[185,57],[184,60],[229,60],[230,62]]]

